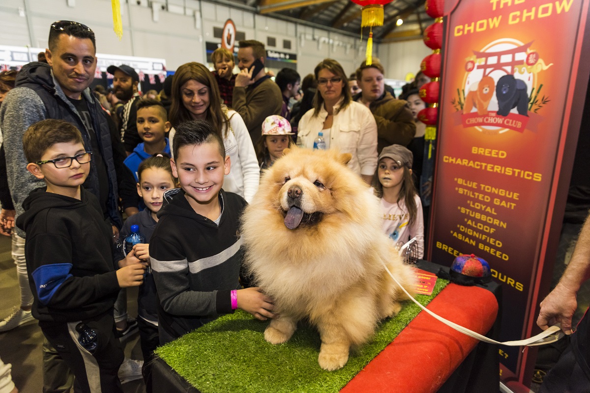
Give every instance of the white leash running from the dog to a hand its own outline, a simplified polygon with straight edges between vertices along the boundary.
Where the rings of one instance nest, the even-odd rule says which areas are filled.
[[[486,336],[481,335],[480,333],[471,331],[470,329],[467,329],[461,325],[457,325],[457,323],[448,321],[448,319],[442,318],[442,316],[436,315],[434,312],[432,312],[429,309],[422,306],[418,302],[418,300],[414,299],[414,296],[410,295],[408,293],[408,291],[404,289],[404,287],[399,283],[399,281],[394,277],[394,275],[391,274],[391,272],[389,271],[388,267],[385,264],[383,264],[383,267],[385,267],[385,270],[387,270],[387,272],[389,273],[389,276],[391,276],[391,278],[399,286],[399,288],[401,288],[404,291],[404,293],[406,295],[408,295],[408,297],[412,300],[412,302],[416,303],[419,306],[419,308],[421,308],[425,312],[429,313],[430,315],[432,315],[434,318],[438,319],[438,321],[441,321],[445,325],[451,326],[451,328],[455,329],[456,331],[466,334],[470,337],[476,338],[480,341],[488,342],[490,344],[501,344],[501,345],[508,345],[508,346],[523,346],[523,345],[533,346],[533,345],[550,344],[552,342],[558,341],[560,338],[562,338],[565,335],[565,333],[563,333],[563,331],[561,330],[559,325],[554,325],[554,326],[551,326],[546,331],[543,331],[543,332],[537,334],[536,336],[533,336],[531,338],[527,338],[524,340],[504,341],[504,342],[492,340],[490,338],[487,338]]]

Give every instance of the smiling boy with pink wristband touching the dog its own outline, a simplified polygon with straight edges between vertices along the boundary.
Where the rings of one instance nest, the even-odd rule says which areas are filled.
[[[208,121],[186,121],[176,128],[173,150],[172,173],[181,189],[166,191],[149,243],[160,344],[236,308],[273,318],[270,298],[258,288],[240,289],[246,202],[221,189],[230,173],[221,137]]]

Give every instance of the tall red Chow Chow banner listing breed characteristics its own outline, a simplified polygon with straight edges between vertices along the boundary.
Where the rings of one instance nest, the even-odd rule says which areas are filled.
[[[428,257],[489,262],[503,283],[501,341],[535,331],[542,276],[551,275],[545,259],[573,162],[563,157],[575,152],[588,82],[587,14],[588,0],[445,2]],[[526,351],[501,347],[500,359],[530,381]]]

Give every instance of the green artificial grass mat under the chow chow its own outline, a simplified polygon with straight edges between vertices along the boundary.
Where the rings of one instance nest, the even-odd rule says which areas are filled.
[[[438,279],[431,296],[417,295],[427,305],[447,285]],[[264,341],[268,321],[247,312],[221,316],[156,350],[169,366],[202,393],[218,392],[337,392],[379,354],[421,309],[408,300],[394,318],[376,329],[371,341],[350,352],[337,371],[317,364],[320,336],[300,323],[285,344]]]

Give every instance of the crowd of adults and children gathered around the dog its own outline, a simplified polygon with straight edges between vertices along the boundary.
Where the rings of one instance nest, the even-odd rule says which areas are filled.
[[[303,81],[292,68],[273,80],[264,44],[248,40],[237,74],[219,48],[214,71],[188,62],[160,92],[142,94],[126,64],[108,67],[112,87],[91,89],[96,38],[73,21],[51,25],[45,59],[0,72],[0,232],[12,236],[21,289],[0,332],[39,321],[44,391],[117,392],[143,376],[151,392],[158,345],[237,308],[273,318],[272,299],[241,275],[235,234],[264,170],[319,133],[381,198],[383,231],[398,246],[415,238],[423,256],[425,105],[417,85],[395,98],[379,61],[351,78],[325,59]],[[145,243],[126,248],[137,230]],[[96,348],[74,339],[79,323]],[[121,345],[138,331],[143,362]]]

